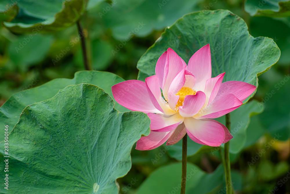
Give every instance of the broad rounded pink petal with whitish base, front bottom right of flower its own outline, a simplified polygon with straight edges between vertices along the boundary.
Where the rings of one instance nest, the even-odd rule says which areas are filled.
[[[184,124],[188,136],[195,142],[204,145],[220,146],[225,138],[223,127],[210,119],[185,118]],[[198,140],[198,141],[196,141]]]

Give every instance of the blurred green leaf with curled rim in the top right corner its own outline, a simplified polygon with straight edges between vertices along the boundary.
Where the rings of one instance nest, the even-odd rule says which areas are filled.
[[[289,17],[289,0],[247,0],[245,11],[251,16]]]

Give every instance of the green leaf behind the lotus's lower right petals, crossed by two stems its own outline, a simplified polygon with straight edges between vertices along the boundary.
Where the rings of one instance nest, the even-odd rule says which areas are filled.
[[[240,152],[247,140],[247,128],[250,124],[250,118],[253,115],[260,114],[264,110],[264,106],[253,100],[247,104],[242,105],[240,108],[231,112],[231,139],[230,152],[237,154]],[[225,124],[225,116],[217,118],[219,122]],[[193,142],[191,139],[187,142],[187,155],[193,156],[198,152],[211,152],[212,154],[218,152],[220,147],[209,147]],[[177,160],[182,159],[182,141],[174,145],[167,146],[168,154]]]

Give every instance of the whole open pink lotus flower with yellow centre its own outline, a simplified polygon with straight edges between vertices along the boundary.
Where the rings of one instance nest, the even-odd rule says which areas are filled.
[[[212,119],[241,106],[256,89],[242,81],[222,83],[225,73],[211,78],[209,45],[199,49],[188,65],[168,48],[158,59],[155,73],[145,82],[128,80],[112,86],[119,104],[131,111],[144,112],[151,120],[150,134],[137,141],[139,150],[154,149],[166,140],[166,145],[173,145],[186,132],[203,145],[220,146],[228,142],[233,138],[229,130]]]

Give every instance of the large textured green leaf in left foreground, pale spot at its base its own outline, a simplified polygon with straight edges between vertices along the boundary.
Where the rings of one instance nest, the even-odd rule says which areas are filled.
[[[131,148],[149,134],[150,119],[113,107],[90,84],[26,107],[9,135],[9,193],[118,193],[115,180],[131,168]]]

